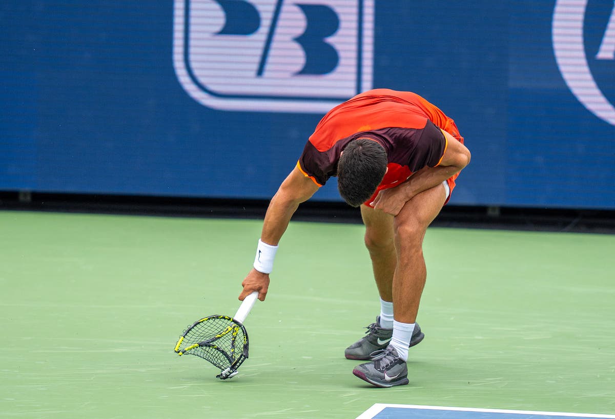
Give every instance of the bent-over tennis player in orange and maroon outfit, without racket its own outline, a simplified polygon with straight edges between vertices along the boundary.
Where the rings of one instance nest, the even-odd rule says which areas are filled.
[[[253,269],[239,300],[269,287],[278,243],[301,202],[338,178],[341,197],[359,207],[381,311],[346,358],[369,360],[354,375],[378,387],[408,384],[408,348],[426,281],[423,237],[470,161],[453,119],[411,92],[369,90],[320,120],[295,169],[266,212]]]

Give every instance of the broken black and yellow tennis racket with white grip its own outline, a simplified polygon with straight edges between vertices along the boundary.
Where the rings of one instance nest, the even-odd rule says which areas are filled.
[[[220,368],[216,378],[226,380],[248,357],[248,333],[243,322],[258,298],[253,292],[244,298],[235,316],[207,316],[188,327],[175,345],[179,355],[199,356]]]

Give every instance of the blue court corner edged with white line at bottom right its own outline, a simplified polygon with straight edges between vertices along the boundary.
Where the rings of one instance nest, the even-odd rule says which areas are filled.
[[[375,404],[357,419],[565,419],[579,417],[615,418],[613,415],[582,413]]]

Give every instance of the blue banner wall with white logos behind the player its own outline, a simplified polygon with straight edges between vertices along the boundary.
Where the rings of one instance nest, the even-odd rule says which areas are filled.
[[[270,198],[328,108],[389,87],[466,137],[451,203],[615,209],[613,7],[4,0],[0,190]]]

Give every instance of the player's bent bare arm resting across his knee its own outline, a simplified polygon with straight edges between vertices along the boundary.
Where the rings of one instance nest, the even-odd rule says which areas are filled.
[[[444,132],[444,135],[447,144],[440,164],[436,167],[424,167],[401,185],[380,191],[373,203],[375,209],[396,216],[414,196],[440,185],[469,164],[470,151],[467,147],[448,132]]]

